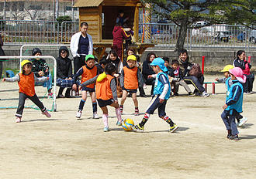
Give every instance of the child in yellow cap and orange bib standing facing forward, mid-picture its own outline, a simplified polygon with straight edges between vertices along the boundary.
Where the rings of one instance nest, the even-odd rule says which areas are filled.
[[[123,113],[123,104],[126,101],[128,93],[132,93],[133,103],[135,106],[135,116],[139,116],[137,88],[142,86],[140,70],[137,68],[137,58],[134,55],[127,57],[127,66],[123,67],[120,83],[123,90],[123,96],[120,104],[121,113]]]

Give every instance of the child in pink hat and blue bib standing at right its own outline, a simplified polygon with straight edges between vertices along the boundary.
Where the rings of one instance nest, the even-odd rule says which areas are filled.
[[[239,113],[243,112],[244,90],[241,83],[245,83],[246,76],[243,75],[243,71],[239,67],[229,69],[229,72],[233,85],[230,86],[227,92],[226,103],[223,106],[224,111],[221,114],[221,118],[227,128],[227,138],[230,140],[239,140],[235,118]]]

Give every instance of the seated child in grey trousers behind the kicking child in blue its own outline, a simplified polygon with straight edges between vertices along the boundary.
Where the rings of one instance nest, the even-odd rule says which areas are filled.
[[[166,62],[164,62],[164,66],[166,65]],[[185,90],[189,93],[189,96],[194,96],[192,91],[190,90],[189,86],[185,81],[183,80],[182,70],[179,68],[179,62],[178,60],[174,59],[171,62],[171,69],[169,69],[169,76],[171,76],[171,82],[174,83],[175,90],[174,95],[178,96],[178,86],[181,85],[185,88]]]

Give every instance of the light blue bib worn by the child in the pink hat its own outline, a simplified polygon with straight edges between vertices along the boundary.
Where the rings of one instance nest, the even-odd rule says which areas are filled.
[[[230,89],[227,91],[226,110],[230,110],[230,114],[232,114],[232,110],[236,110],[238,113],[242,113],[244,93],[243,86],[238,80],[233,80],[232,82],[233,85],[230,86]]]

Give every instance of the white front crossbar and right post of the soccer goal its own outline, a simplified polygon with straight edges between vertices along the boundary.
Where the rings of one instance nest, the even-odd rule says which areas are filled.
[[[33,59],[35,56],[0,56],[0,59]],[[54,60],[54,111],[57,110],[56,104],[56,78],[57,78],[57,61],[54,56],[40,56],[42,59]],[[19,63],[20,66],[20,63]]]

